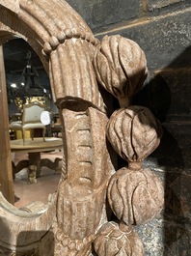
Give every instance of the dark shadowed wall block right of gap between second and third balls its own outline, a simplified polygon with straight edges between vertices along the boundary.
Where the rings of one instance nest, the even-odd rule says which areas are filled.
[[[150,164],[167,170],[176,170],[183,175],[191,173],[190,134],[191,126],[188,122],[165,123],[163,137],[156,151],[149,157]],[[147,161],[147,160],[146,160]]]

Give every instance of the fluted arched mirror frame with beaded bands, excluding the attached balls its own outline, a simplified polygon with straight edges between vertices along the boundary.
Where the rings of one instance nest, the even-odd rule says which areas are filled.
[[[14,248],[15,251],[19,247],[15,244],[19,243],[22,250],[24,246],[27,250],[27,242],[32,244],[40,241],[44,234],[54,226],[56,248],[52,255],[57,255],[57,252],[60,255],[60,245],[61,241],[65,240],[64,237],[67,243],[77,242],[76,250],[82,251],[80,255],[88,255],[88,252],[92,250],[91,243],[95,236],[95,229],[100,219],[106,217],[105,187],[111,176],[111,168],[107,167],[109,157],[105,143],[107,122],[105,104],[99,92],[93,68],[93,56],[99,41],[95,39],[81,16],[72,10],[67,2],[60,0],[17,0],[14,2],[1,0],[0,43],[5,43],[13,37],[20,37],[33,47],[41,58],[45,71],[49,74],[52,95],[59,108],[64,129],[64,160],[58,185],[60,199],[57,200],[57,196],[53,195],[48,208],[43,213],[24,213],[15,209],[3,195],[0,195],[0,221],[4,223],[1,227],[3,232],[0,234],[0,245],[11,250]],[[1,107],[5,108],[7,104],[3,103]],[[83,150],[92,151],[89,154],[91,159],[80,159],[80,157],[89,156],[84,155],[83,150],[78,148],[78,139],[75,140],[76,130],[70,128],[70,126],[75,128],[75,123],[79,126],[85,124],[85,127],[77,130],[82,131],[82,140],[86,137],[85,140],[91,143],[88,146],[80,145],[84,147]],[[5,126],[1,129],[4,130]],[[87,134],[89,129],[91,129],[91,134]],[[99,130],[98,137],[97,129]],[[5,151],[10,152],[8,144],[6,147]],[[79,162],[82,163],[82,171],[79,169]],[[111,162],[110,165],[113,166]],[[62,185],[67,180],[69,182]],[[66,222],[63,219],[64,211],[66,211],[62,203],[64,194],[65,196],[68,194],[68,201],[71,200],[71,204],[74,204],[74,209],[76,209],[76,212],[73,210],[72,213],[65,213],[66,219],[75,218],[75,221],[74,219],[70,221],[72,226],[69,221]],[[70,197],[71,194],[73,194],[73,199]],[[13,201],[13,198],[10,201]],[[79,202],[81,214],[77,210]],[[57,233],[60,234],[60,228],[57,224],[56,226],[53,224],[55,215],[61,226],[66,229],[62,231],[63,238],[56,236]],[[76,215],[78,215],[77,218]],[[95,221],[89,217],[91,215]],[[87,221],[90,223],[88,224]],[[76,230],[78,225],[81,227]],[[90,228],[87,229],[87,226]],[[29,231],[35,231],[35,234],[31,235]],[[21,240],[18,241],[19,234],[24,234],[24,240],[21,236]],[[63,246],[66,248],[68,245]],[[42,245],[42,247],[43,254],[41,252],[41,255],[50,253],[50,251],[45,251],[46,246]]]

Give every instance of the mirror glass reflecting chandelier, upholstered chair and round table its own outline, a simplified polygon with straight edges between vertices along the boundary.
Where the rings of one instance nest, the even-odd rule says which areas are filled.
[[[41,212],[60,179],[63,142],[57,107],[47,73],[33,48],[22,39],[4,43],[4,61],[14,175],[14,206]],[[50,124],[42,138],[41,112]],[[26,127],[32,123],[32,127]],[[43,124],[41,124],[43,125]],[[22,133],[22,128],[25,131]],[[23,139],[24,138],[24,139]]]

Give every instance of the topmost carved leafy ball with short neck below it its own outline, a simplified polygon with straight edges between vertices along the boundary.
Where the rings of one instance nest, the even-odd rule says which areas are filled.
[[[95,74],[98,82],[121,106],[143,85],[147,74],[147,60],[141,47],[120,35],[105,36],[95,53]]]

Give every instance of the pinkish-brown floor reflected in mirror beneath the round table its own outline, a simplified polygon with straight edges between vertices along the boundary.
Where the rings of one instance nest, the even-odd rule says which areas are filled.
[[[41,153],[41,158],[49,158],[52,161],[56,157],[63,157],[63,152],[55,151],[49,153]],[[14,153],[12,154],[14,163],[23,159],[28,159],[28,154]],[[27,168],[22,169],[15,174],[14,179],[14,195],[16,208],[24,207],[34,201],[41,201],[46,204],[48,195],[56,191],[59,183],[60,174],[54,174],[54,170],[47,167],[41,167],[41,177],[37,179],[37,184],[28,184]]]

